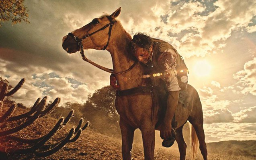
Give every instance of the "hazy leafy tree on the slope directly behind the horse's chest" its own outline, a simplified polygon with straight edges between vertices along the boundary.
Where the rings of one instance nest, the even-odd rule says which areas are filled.
[[[105,86],[88,96],[81,112],[92,123],[90,128],[109,136],[120,136],[119,114],[115,108],[115,90]]]

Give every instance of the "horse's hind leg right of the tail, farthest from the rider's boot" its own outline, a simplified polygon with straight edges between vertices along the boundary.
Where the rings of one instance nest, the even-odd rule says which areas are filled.
[[[205,143],[205,132],[203,129],[203,113],[197,118],[189,117],[188,121],[193,125],[195,131],[197,133],[197,138],[199,140],[199,148],[201,154],[203,155],[203,159],[207,160],[207,148]]]

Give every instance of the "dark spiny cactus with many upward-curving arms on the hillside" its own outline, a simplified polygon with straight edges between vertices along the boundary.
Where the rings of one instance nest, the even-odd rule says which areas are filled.
[[[20,87],[23,85],[25,79],[23,78],[20,80],[20,82],[10,91],[7,92],[8,84],[4,83],[1,90],[0,90],[0,110],[2,109],[3,102],[5,96],[11,96],[15,92],[17,92]],[[7,93],[6,93],[7,92]],[[35,104],[31,107],[31,110],[27,113],[20,114],[18,116],[12,116],[12,113],[14,112],[14,109],[16,108],[16,104],[13,104],[6,113],[0,117],[0,123],[3,122],[12,122],[16,120],[22,120],[24,118],[23,124],[20,124],[19,126],[16,126],[14,128],[0,131],[0,138],[6,136],[7,138],[1,138],[2,142],[8,140],[15,140],[18,142],[22,142],[24,144],[32,144],[32,146],[29,147],[23,147],[23,148],[6,148],[4,146],[0,145],[0,157],[8,158],[8,155],[11,154],[29,154],[33,153],[35,156],[49,156],[58,150],[60,150],[63,146],[65,146],[69,142],[75,142],[78,140],[80,135],[82,134],[82,130],[90,126],[90,122],[86,122],[86,124],[81,128],[84,120],[83,118],[80,119],[78,125],[76,128],[72,128],[70,132],[67,134],[66,138],[63,138],[56,142],[55,144],[45,145],[45,143],[63,126],[65,126],[72,117],[74,117],[74,110],[71,110],[70,113],[67,115],[67,117],[64,119],[63,117],[59,119],[59,121],[55,124],[55,126],[51,129],[48,134],[41,136],[40,138],[35,139],[25,139],[20,138],[18,136],[13,136],[11,134],[18,132],[20,130],[23,130],[30,124],[32,124],[36,119],[41,118],[50,112],[52,112],[57,105],[60,102],[60,98],[56,98],[52,104],[50,104],[48,107],[46,106],[46,100],[47,96],[45,96],[41,101],[41,98],[38,98]]]

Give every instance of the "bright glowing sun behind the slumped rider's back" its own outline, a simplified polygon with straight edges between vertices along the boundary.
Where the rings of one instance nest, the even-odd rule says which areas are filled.
[[[194,66],[194,72],[199,77],[206,77],[211,74],[211,64],[206,60],[197,61]]]

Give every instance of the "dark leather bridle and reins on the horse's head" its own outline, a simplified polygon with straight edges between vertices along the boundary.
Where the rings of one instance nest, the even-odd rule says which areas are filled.
[[[71,36],[72,38],[74,38],[74,40],[77,41],[77,43],[78,43],[78,49],[79,49],[80,54],[81,54],[81,56],[82,56],[82,59],[83,59],[84,61],[89,62],[90,64],[96,66],[97,68],[100,68],[101,70],[104,70],[104,71],[109,72],[109,73],[112,73],[112,74],[124,74],[124,73],[126,73],[126,72],[129,72],[129,71],[137,64],[138,61],[135,61],[134,64],[131,65],[131,67],[128,68],[127,70],[125,70],[125,71],[114,72],[114,70],[112,70],[112,69],[105,68],[105,67],[103,67],[103,66],[100,66],[99,64],[96,64],[96,63],[92,62],[91,60],[89,60],[88,58],[86,58],[86,56],[84,55],[84,48],[83,48],[82,40],[84,40],[84,39],[86,39],[86,38],[92,36],[93,34],[99,32],[99,31],[101,31],[101,30],[104,30],[104,29],[107,28],[107,27],[109,27],[109,38],[108,38],[108,42],[107,42],[106,45],[103,47],[103,50],[105,50],[105,49],[107,48],[107,46],[109,45],[112,27],[113,27],[113,25],[115,24],[115,22],[117,22],[117,21],[116,21],[116,20],[113,21],[110,16],[106,16],[106,17],[109,19],[110,23],[106,24],[105,26],[103,26],[102,28],[96,30],[95,32],[92,32],[92,33],[90,33],[90,34],[86,34],[86,35],[83,36],[82,38],[78,38],[77,36],[75,36],[75,35],[72,34],[72,33],[69,33],[68,35]]]

